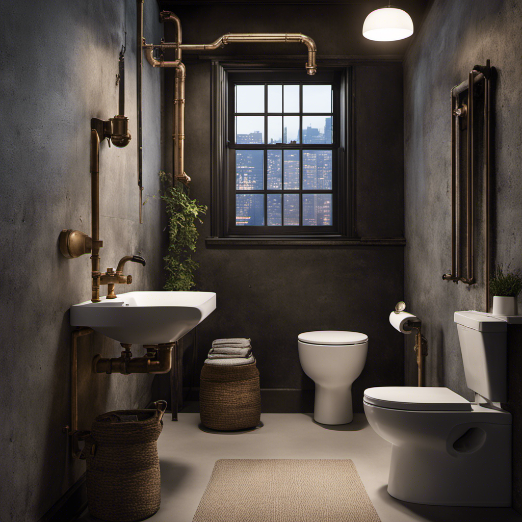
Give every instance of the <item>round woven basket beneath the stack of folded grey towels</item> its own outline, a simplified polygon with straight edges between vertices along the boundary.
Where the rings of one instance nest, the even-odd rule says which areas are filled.
[[[261,419],[256,363],[241,366],[204,364],[199,384],[201,423],[212,430],[243,430]]]

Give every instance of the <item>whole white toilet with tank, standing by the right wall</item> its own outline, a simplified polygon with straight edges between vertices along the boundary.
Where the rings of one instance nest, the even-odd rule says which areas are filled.
[[[511,413],[506,401],[507,323],[455,312],[474,403],[448,388],[388,386],[364,392],[375,432],[392,443],[388,493],[406,502],[511,505]]]

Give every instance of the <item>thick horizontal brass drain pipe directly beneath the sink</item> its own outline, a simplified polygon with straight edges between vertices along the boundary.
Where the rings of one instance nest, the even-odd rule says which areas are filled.
[[[174,343],[161,345],[144,345],[147,350],[145,357],[132,357],[131,346],[121,343],[123,351],[120,357],[105,359],[100,354],[92,360],[93,373],[168,373],[172,367],[172,349]]]

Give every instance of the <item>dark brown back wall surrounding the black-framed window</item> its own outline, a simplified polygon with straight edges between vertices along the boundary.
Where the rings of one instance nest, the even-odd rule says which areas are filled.
[[[338,35],[342,25],[339,9],[346,7],[324,6],[320,20],[315,18],[317,6],[300,8],[300,16],[295,18],[290,16],[295,6],[267,6],[256,17],[247,16],[241,5],[226,9],[183,7],[176,13],[186,43],[213,41],[227,31],[278,31],[286,27],[314,38],[319,55],[351,55],[362,46],[350,47],[357,38]],[[165,34],[167,39],[172,38],[168,26]],[[270,55],[279,51],[276,48],[247,46],[244,52]],[[284,49],[291,54],[305,52],[299,45]],[[375,49],[370,43],[366,52],[375,54]],[[380,49],[382,52],[385,48]],[[230,51],[237,54],[242,48],[231,46]],[[220,51],[224,52],[229,49]],[[363,236],[402,236],[402,66],[400,62],[362,60],[354,67],[357,229]],[[170,110],[169,72],[165,80],[165,103]],[[210,89],[208,60],[189,64],[185,171],[193,180],[191,195],[208,206]],[[168,165],[170,150],[165,145]],[[212,339],[245,336],[252,339],[262,388],[311,389],[313,383],[299,363],[297,337],[303,331],[341,329],[362,331],[370,338],[366,367],[354,384],[357,411],[362,411],[364,388],[403,383],[402,337],[387,322],[390,310],[403,295],[403,247],[210,247],[205,244],[210,235],[209,217],[200,232],[194,256],[200,264],[197,282],[200,289],[217,293],[218,305],[199,326],[197,373]]]

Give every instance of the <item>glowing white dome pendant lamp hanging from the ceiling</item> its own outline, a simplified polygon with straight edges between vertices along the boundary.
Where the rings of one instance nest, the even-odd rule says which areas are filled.
[[[391,42],[413,34],[413,21],[402,9],[390,6],[375,9],[364,20],[362,34],[369,40]]]

